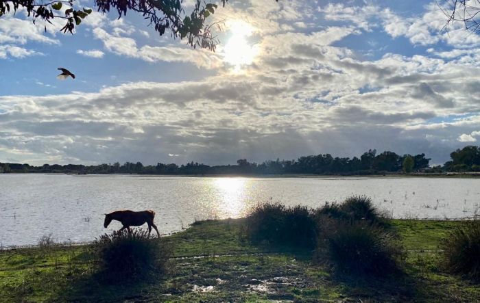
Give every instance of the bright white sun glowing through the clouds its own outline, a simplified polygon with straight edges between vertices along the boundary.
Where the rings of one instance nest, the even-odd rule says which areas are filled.
[[[224,62],[232,65],[234,70],[250,65],[259,53],[259,47],[252,45],[248,37],[252,36],[254,27],[245,21],[228,21],[227,27],[232,34],[223,49]]]

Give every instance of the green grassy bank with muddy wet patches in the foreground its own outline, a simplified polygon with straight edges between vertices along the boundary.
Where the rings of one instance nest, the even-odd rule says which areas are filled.
[[[173,248],[164,278],[103,285],[95,279],[90,246],[0,251],[1,302],[476,302],[478,283],[438,267],[442,238],[453,221],[393,220],[407,269],[395,280],[359,280],[313,265],[311,252],[252,245],[245,220],[197,222],[166,237]]]

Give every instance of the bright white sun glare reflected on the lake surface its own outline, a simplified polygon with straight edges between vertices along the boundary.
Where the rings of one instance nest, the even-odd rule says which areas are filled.
[[[250,182],[241,178],[217,178],[213,185],[219,198],[217,209],[219,217],[239,218],[245,215],[247,187]]]

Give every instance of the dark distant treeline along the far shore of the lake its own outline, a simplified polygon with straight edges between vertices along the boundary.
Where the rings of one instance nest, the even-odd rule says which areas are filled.
[[[175,163],[157,163],[143,166],[141,162],[119,162],[84,166],[81,164],[30,166],[19,163],[0,163],[0,172],[60,172],[75,174],[383,174],[386,172],[479,172],[479,146],[466,146],[451,153],[451,161],[444,166],[430,167],[424,154],[397,155],[385,151],[377,154],[368,150],[360,157],[333,157],[330,154],[311,155],[296,160],[267,160],[261,164],[239,159],[237,165],[207,166],[193,161],[178,166]]]

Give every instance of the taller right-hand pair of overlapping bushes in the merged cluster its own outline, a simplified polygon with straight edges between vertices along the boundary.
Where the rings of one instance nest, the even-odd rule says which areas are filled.
[[[330,261],[342,272],[357,275],[387,276],[401,268],[400,241],[394,230],[385,228],[389,220],[367,196],[327,203],[317,209],[316,221],[315,261]]]

